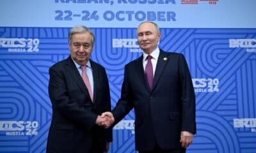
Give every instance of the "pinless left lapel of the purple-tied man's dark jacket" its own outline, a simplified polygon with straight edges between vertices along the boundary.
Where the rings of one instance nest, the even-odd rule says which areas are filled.
[[[141,82],[145,85],[145,88],[147,89],[148,92],[150,92],[150,88],[147,82],[147,78],[145,77],[145,71],[143,68],[143,55],[136,61],[136,72],[138,73],[139,79]]]

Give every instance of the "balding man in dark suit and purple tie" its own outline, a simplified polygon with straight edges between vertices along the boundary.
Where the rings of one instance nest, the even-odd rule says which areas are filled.
[[[134,108],[136,150],[186,152],[196,133],[195,92],[186,60],[157,47],[161,33],[154,22],[141,23],[137,34],[143,55],[125,65],[121,98],[102,117],[116,124]]]

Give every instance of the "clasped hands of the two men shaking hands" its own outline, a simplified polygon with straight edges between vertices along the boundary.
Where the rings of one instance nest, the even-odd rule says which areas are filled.
[[[96,119],[96,124],[98,126],[103,126],[104,128],[109,128],[113,122],[115,122],[115,118],[111,112],[104,112],[101,115],[98,115]]]

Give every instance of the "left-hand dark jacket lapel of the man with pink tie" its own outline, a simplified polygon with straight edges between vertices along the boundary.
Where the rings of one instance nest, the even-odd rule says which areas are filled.
[[[74,62],[72,61],[71,57],[69,56],[67,59],[67,71],[70,74],[70,76],[72,77],[71,81],[75,81],[77,83],[77,85],[79,86],[79,88],[85,93],[87,94],[88,97],[90,97],[90,94],[88,92],[88,89],[86,87],[86,85],[83,82],[83,78],[81,77],[81,75],[79,74],[79,72],[77,71],[76,65],[74,64]],[[94,96],[93,96],[94,97]],[[90,98],[89,98],[90,99]]]

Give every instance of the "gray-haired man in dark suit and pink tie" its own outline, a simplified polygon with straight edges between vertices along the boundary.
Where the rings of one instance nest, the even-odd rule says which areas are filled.
[[[49,96],[52,122],[47,152],[107,152],[112,129],[100,126],[111,110],[108,77],[105,69],[90,55],[95,36],[85,26],[71,29],[68,35],[70,56],[49,69]]]

